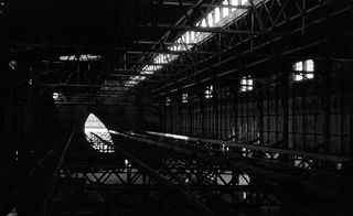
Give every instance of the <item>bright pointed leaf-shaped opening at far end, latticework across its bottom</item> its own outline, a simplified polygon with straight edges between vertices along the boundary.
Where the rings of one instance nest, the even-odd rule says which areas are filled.
[[[94,114],[90,114],[85,122],[85,134],[92,148],[100,153],[115,152],[108,129]]]

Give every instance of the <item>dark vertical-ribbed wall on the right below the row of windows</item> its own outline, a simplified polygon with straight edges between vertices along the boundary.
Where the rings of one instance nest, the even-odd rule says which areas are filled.
[[[254,73],[254,90],[239,90],[239,77],[214,84],[212,98],[171,96],[165,131],[188,136],[350,154],[352,65],[315,62],[314,79],[295,82],[282,71]]]

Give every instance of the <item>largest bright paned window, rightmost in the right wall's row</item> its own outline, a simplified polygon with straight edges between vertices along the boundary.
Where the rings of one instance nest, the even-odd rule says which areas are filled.
[[[314,78],[314,62],[312,60],[297,62],[292,65],[292,79],[295,82]]]

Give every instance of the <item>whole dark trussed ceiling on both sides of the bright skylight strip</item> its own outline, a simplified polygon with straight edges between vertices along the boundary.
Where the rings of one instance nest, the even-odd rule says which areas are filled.
[[[78,97],[79,101],[85,101],[99,94],[109,98],[126,93],[121,88],[124,82],[138,75],[159,53],[168,53],[168,46],[175,39],[188,28],[194,28],[222,1],[2,2],[0,45],[10,48],[13,58],[20,62],[19,68],[24,77],[35,85],[69,96],[67,100]],[[340,43],[352,31],[346,24],[352,19],[352,1],[303,2],[261,1],[225,29],[208,29],[214,35],[211,40],[189,53],[181,52],[178,62],[128,93],[163,96],[179,87],[188,88],[190,84],[199,85],[223,75],[248,71],[271,58],[289,55],[327,57],[325,52],[338,45],[342,46],[338,50],[344,52],[344,45]],[[315,50],[315,44],[321,43],[328,43],[328,46]],[[312,50],[308,52],[308,47]],[[60,61],[62,55],[84,54],[101,58],[92,62]],[[341,57],[340,54],[333,55]]]

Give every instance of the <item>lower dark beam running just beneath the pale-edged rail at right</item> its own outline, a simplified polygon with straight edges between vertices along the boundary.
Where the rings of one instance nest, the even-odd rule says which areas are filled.
[[[244,153],[233,153],[227,151],[220,151],[217,150],[217,148],[214,149],[203,147],[200,145],[200,143],[196,145],[190,145],[185,144],[184,142],[159,140],[146,136],[132,136],[125,133],[119,133],[119,136],[147,144],[165,148],[185,155],[192,155],[202,161],[214,161],[215,163],[225,164],[233,169],[246,171],[252,175],[271,179],[286,184],[291,183],[293,185],[300,185],[304,187],[307,192],[321,194],[322,197],[325,197],[328,199],[332,199],[333,197],[333,199],[342,198],[340,186],[338,184],[339,177],[330,177],[330,175],[323,174],[322,172],[318,172],[317,174],[314,174],[314,171],[311,169],[303,169],[302,171],[300,171],[300,169],[298,168],[289,168],[287,165],[280,165],[272,162],[269,162],[266,165],[265,160],[256,159],[253,152],[252,156],[247,156],[244,155]],[[210,144],[212,145],[212,143]],[[281,172],[278,172],[279,170],[281,170]],[[302,174],[300,174],[300,172]],[[313,177],[311,181],[309,181],[310,176]],[[319,184],[320,181],[321,183]],[[329,184],[329,186],[324,186],[324,184]]]

